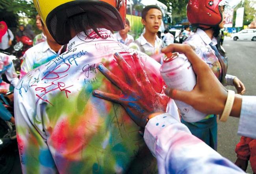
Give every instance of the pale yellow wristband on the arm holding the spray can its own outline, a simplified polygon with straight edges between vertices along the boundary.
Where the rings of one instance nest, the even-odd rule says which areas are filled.
[[[230,115],[230,112],[232,110],[234,100],[235,100],[235,92],[232,91],[232,90],[228,90],[228,97],[227,97],[227,100],[226,100],[226,104],[225,104],[223,113],[222,113],[221,118],[220,118],[219,121],[223,121],[223,122],[227,121],[228,116]]]

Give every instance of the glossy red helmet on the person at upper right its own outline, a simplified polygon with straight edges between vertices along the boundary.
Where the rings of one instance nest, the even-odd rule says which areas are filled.
[[[223,16],[219,3],[222,0],[189,0],[187,18],[191,25],[209,28],[218,26]]]

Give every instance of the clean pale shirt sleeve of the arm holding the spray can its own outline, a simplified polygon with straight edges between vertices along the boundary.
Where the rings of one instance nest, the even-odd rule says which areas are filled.
[[[237,134],[256,139],[256,96],[243,96]]]

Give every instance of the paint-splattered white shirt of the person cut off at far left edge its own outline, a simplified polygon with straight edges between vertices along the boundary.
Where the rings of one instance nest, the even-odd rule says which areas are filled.
[[[13,85],[16,86],[18,84],[18,75],[15,71],[15,68],[13,66],[13,59],[15,59],[15,56],[6,55],[3,53],[0,53],[0,88],[4,88],[6,90],[9,90],[9,83],[6,83],[2,79],[2,74],[5,74],[8,81]]]

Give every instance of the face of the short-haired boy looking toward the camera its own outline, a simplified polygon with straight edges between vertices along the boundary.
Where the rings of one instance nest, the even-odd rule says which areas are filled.
[[[146,15],[146,19],[141,19],[141,23],[145,25],[146,32],[157,33],[162,23],[162,13],[158,9],[150,9]]]

